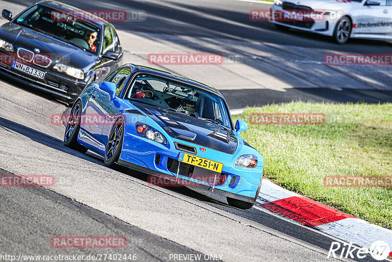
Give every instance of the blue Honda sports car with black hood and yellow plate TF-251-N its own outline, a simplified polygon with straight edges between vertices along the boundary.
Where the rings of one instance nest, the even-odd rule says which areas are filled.
[[[226,196],[250,209],[263,157],[240,136],[215,88],[149,67],[125,64],[86,86],[71,109],[64,144],[115,164]]]

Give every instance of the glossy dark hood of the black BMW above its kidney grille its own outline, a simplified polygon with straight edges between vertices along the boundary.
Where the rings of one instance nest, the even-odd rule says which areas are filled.
[[[63,63],[80,69],[95,62],[97,58],[96,55],[59,39],[13,23],[0,26],[0,38],[12,43],[16,49],[24,48],[32,52],[39,49],[39,53],[49,56],[53,63]]]

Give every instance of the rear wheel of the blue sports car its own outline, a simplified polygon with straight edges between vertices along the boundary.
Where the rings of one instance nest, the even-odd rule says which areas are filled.
[[[88,149],[77,142],[77,135],[80,130],[80,119],[82,114],[81,109],[82,102],[79,100],[75,105],[73,105],[71,109],[71,114],[68,118],[68,123],[64,133],[64,145],[81,153],[86,153]]]

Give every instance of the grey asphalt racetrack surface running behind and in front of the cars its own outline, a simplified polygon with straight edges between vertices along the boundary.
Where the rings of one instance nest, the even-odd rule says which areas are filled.
[[[1,1],[1,6],[18,13],[33,2]],[[158,66],[216,86],[231,108],[292,100],[392,100],[387,67],[323,68],[317,63],[327,52],[388,53],[390,43],[351,40],[337,46],[325,37],[279,32],[268,23],[249,21],[249,10],[268,5],[231,0],[68,2],[82,9],[147,12],[146,22],[114,23],[126,51],[124,62],[146,64],[149,52],[241,55],[242,62],[207,68]],[[322,72],[325,78],[318,76]],[[138,261],[169,261],[173,253],[216,254],[223,261],[327,260],[336,241],[329,236],[267,210],[230,208],[216,195],[151,187],[144,174],[110,170],[93,153],[65,148],[64,127],[52,126],[50,115],[66,109],[49,95],[1,79],[0,173],[53,175],[62,182],[48,188],[0,187],[1,253],[117,253],[53,249],[50,237],[123,235],[130,245],[119,253],[136,253]]]

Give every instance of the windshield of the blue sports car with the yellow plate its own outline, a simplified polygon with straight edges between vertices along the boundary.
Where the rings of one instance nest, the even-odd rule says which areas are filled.
[[[131,83],[125,98],[209,120],[232,129],[227,107],[220,96],[171,79],[139,74]]]

